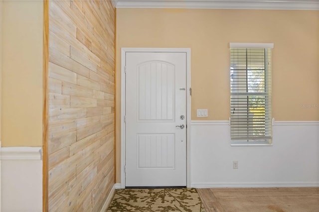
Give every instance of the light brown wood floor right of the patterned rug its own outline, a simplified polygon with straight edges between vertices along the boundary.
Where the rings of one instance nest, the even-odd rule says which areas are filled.
[[[207,212],[319,212],[319,188],[197,189]]]

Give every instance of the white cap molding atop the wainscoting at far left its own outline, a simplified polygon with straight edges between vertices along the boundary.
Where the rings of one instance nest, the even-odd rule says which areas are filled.
[[[42,147],[1,147],[1,160],[41,160]]]

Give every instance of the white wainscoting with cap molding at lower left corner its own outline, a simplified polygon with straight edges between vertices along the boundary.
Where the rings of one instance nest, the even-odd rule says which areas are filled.
[[[42,211],[41,147],[0,147],[1,212]]]

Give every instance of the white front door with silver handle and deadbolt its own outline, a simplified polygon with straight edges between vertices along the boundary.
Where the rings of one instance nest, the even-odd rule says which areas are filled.
[[[126,53],[126,187],[186,186],[186,53]]]

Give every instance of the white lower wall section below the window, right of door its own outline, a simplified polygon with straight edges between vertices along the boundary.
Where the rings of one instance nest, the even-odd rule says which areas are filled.
[[[191,121],[191,187],[319,186],[319,121],[275,121],[272,146],[231,146],[228,123]]]

